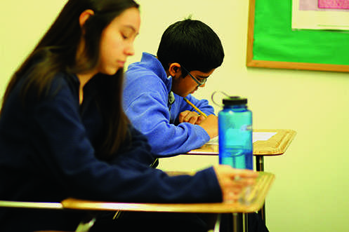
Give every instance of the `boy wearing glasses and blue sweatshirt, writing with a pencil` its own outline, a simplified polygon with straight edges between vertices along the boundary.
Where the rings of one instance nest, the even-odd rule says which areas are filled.
[[[198,20],[169,26],[157,56],[143,53],[125,75],[124,110],[133,125],[147,136],[160,156],[186,153],[218,135],[218,118],[207,100],[192,93],[204,87],[223,62],[217,34]],[[195,104],[199,115],[185,100]]]

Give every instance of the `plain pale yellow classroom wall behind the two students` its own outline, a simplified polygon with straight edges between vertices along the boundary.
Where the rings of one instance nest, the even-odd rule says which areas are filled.
[[[0,2],[1,95],[65,2]],[[265,171],[276,175],[266,200],[270,231],[349,231],[349,74],[246,68],[247,0],[138,2],[142,26],[128,63],[140,60],[142,51],[156,53],[164,29],[192,15],[210,25],[225,48],[222,67],[195,96],[211,102],[213,91],[221,90],[248,97],[253,128],[296,130],[283,156],[265,158]],[[178,156],[164,159],[161,168],[196,170],[217,162],[216,157]]]

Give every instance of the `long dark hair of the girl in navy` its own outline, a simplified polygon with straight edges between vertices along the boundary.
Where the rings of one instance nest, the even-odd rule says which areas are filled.
[[[27,76],[27,82],[21,92],[21,98],[25,101],[28,93],[44,97],[58,72],[78,74],[95,68],[100,58],[100,38],[103,29],[128,8],[139,8],[139,6],[133,0],[67,1],[53,25],[11,77],[2,106],[4,107],[11,91],[23,76]],[[94,14],[81,28],[79,16],[88,9]],[[85,42],[84,60],[79,62],[76,56],[82,37]],[[96,81],[95,86],[99,95],[98,107],[105,121],[105,132],[101,137],[103,144],[98,151],[98,154],[103,154],[101,155],[103,158],[112,156],[128,137],[129,120],[121,104],[123,73],[124,70],[119,69],[112,76],[102,75],[102,78],[93,80]]]

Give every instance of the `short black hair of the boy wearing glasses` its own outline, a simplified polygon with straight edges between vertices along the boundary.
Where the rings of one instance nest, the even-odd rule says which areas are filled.
[[[169,64],[177,62],[187,71],[208,72],[222,64],[224,51],[211,27],[199,20],[186,19],[165,30],[157,57],[165,70],[169,69]]]

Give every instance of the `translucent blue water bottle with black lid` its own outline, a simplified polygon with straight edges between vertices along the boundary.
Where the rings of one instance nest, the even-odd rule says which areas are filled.
[[[219,163],[253,170],[252,112],[246,104],[242,97],[223,99],[218,113]]]

